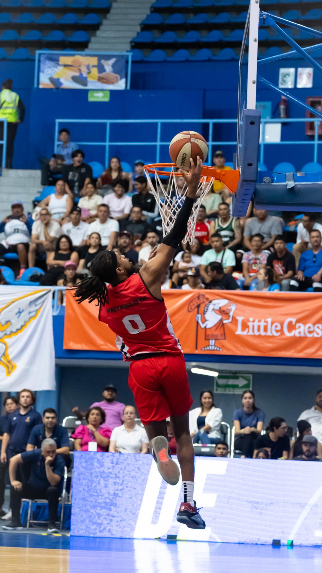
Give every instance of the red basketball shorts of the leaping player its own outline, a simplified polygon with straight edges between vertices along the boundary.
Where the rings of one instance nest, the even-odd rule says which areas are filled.
[[[144,424],[183,416],[193,403],[183,354],[133,360],[128,385]]]

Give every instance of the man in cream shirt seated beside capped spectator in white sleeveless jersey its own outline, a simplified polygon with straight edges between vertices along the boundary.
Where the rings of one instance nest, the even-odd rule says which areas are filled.
[[[52,252],[57,238],[61,234],[61,226],[58,221],[52,219],[48,207],[41,207],[39,219],[33,222],[32,241],[28,250],[28,264],[34,266],[36,256],[47,258],[48,253]]]

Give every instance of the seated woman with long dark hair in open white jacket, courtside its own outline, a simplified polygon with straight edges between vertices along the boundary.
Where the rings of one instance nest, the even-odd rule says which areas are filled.
[[[217,444],[221,440],[222,411],[216,408],[211,390],[202,390],[200,406],[190,410],[189,427],[194,444]]]

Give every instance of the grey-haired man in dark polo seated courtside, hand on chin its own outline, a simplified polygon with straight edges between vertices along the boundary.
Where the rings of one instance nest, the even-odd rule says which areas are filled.
[[[29,480],[24,483],[17,479],[17,468],[20,464],[30,468]],[[49,523],[47,532],[59,533],[55,521],[64,468],[65,462],[61,456],[56,455],[56,442],[51,438],[44,439],[41,449],[22,452],[11,458],[9,477],[12,521],[8,525],[2,525],[2,529],[7,531],[22,529],[20,506],[21,499],[25,497],[27,499],[48,500]]]

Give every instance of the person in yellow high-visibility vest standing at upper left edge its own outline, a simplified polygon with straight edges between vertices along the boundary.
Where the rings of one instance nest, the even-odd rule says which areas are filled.
[[[24,117],[25,106],[18,94],[12,91],[12,80],[4,81],[0,92],[0,119],[7,120],[6,167],[9,169],[12,168],[13,144],[18,123],[22,123]],[[3,139],[3,121],[0,121],[0,139]]]

